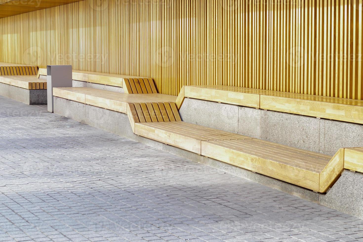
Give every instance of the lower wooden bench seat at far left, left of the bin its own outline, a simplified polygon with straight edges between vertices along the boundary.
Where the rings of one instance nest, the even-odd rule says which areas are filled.
[[[0,82],[28,90],[47,89],[46,80],[40,79],[36,75],[0,76]]]

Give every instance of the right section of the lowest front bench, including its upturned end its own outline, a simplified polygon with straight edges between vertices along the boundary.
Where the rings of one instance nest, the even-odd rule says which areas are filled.
[[[259,139],[202,142],[202,155],[325,193],[344,169],[344,149],[334,157]]]

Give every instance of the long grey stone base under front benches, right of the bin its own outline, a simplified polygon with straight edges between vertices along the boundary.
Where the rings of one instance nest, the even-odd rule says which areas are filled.
[[[149,145],[156,149],[169,152],[173,155],[219,169],[220,171],[223,171],[223,173],[228,172],[234,176],[258,182],[262,185],[278,189],[282,192],[303,198],[305,200],[313,201],[329,208],[334,208],[344,213],[363,218],[363,190],[357,185],[361,184],[362,182],[362,173],[344,171],[338,182],[327,194],[315,193],[311,190],[273,179],[272,177],[254,173],[231,164],[197,155],[196,153],[185,151],[184,149],[135,135],[132,132],[127,115],[121,112],[106,110],[104,108],[74,102],[64,98],[54,97],[54,113],[96,128],[100,128],[127,139]],[[205,168],[205,171],[207,172],[208,168]],[[334,194],[339,193],[347,187],[350,187],[350,190],[347,190],[347,192],[354,193],[355,196],[334,196]],[[346,206],[347,203],[350,203],[350,206]]]

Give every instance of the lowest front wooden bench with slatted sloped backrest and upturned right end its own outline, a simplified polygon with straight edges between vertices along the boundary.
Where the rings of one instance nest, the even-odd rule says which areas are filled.
[[[154,107],[148,103],[128,104],[130,123],[136,135],[322,193],[334,184],[344,169],[344,149],[331,157],[185,123],[180,121],[179,114],[178,118],[171,119],[164,112],[164,120],[156,119],[155,114],[150,113],[150,110],[154,112]],[[154,118],[143,118],[146,116]]]

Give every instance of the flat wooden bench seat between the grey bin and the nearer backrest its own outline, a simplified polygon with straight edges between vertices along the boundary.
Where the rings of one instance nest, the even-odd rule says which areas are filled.
[[[125,114],[127,114],[127,103],[163,103],[176,101],[175,96],[159,93],[125,94],[90,87],[53,88],[53,95],[55,97],[65,98]]]

